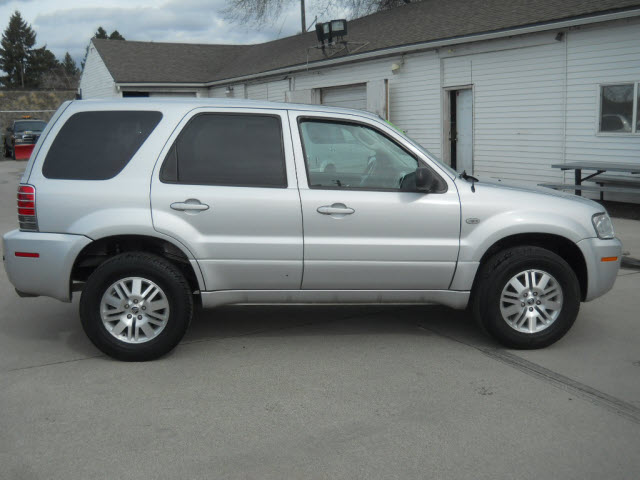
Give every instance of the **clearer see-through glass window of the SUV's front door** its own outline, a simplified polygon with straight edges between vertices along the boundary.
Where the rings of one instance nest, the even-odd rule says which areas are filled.
[[[360,124],[300,124],[311,188],[404,189],[418,161],[378,131]]]

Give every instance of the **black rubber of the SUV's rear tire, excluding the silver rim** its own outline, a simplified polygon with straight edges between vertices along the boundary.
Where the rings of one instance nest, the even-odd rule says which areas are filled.
[[[118,280],[142,277],[158,285],[169,302],[169,320],[160,334],[147,342],[130,344],[116,339],[100,316],[104,292]],[[180,271],[161,257],[122,254],[102,264],[89,277],[80,300],[82,327],[102,352],[119,360],[146,361],[171,351],[184,336],[193,313],[193,301]]]

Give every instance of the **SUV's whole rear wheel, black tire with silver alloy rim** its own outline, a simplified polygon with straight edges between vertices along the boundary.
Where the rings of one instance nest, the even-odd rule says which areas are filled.
[[[171,262],[144,252],[104,262],[87,280],[80,299],[85,333],[118,360],[165,355],[180,342],[192,316],[193,297],[184,275]]]

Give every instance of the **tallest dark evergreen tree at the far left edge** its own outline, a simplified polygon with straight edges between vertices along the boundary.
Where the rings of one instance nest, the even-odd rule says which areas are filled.
[[[35,43],[35,32],[16,10],[11,15],[9,25],[0,41],[0,69],[6,73],[5,76],[0,77],[0,82],[4,86],[24,87],[31,83],[27,72],[30,52]]]

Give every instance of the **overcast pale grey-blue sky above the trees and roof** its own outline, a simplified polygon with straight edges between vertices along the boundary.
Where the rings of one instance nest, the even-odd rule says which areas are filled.
[[[224,0],[0,0],[0,29],[18,10],[38,47],[46,44],[59,59],[68,51],[78,63],[98,26],[117,29],[127,40],[185,43],[258,43],[300,30],[299,4],[276,25],[259,29],[225,21],[224,6]]]

